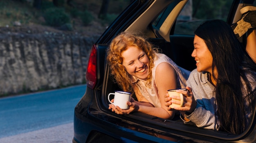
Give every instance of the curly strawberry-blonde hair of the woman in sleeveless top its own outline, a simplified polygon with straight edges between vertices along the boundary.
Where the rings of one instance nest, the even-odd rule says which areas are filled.
[[[110,73],[115,77],[117,84],[127,92],[134,93],[132,83],[132,76],[128,74],[125,70],[125,67],[122,65],[123,57],[121,53],[127,49],[127,47],[135,46],[143,50],[149,59],[149,74],[146,82],[146,86],[150,87],[152,80],[152,67],[154,66],[154,59],[156,53],[158,52],[157,48],[154,48],[151,43],[149,43],[146,38],[139,36],[132,32],[121,32],[117,37],[115,37],[108,48],[107,51],[107,60],[110,65]]]

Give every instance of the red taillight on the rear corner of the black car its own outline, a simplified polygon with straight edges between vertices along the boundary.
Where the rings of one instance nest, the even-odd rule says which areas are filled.
[[[97,80],[97,48],[96,45],[92,45],[92,50],[88,60],[86,71],[86,83],[87,87],[94,88]]]

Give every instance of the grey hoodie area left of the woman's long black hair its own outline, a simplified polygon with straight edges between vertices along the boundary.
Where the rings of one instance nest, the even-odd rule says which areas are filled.
[[[186,83],[192,89],[197,106],[193,113],[185,114],[185,117],[200,128],[217,130],[214,86],[207,80],[207,73],[195,69]]]

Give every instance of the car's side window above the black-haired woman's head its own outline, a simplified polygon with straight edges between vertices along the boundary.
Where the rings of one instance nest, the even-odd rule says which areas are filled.
[[[233,0],[189,0],[177,17],[174,34],[194,35],[205,20],[227,21]]]

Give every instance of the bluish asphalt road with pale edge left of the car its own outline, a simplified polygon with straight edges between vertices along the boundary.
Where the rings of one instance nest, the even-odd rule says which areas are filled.
[[[39,143],[42,138],[42,143],[64,143],[58,138],[68,137],[71,139],[67,142],[71,143],[74,107],[85,89],[86,85],[78,85],[0,98],[0,142],[23,143],[21,139],[26,138],[24,142]],[[46,138],[53,139],[46,141]]]

